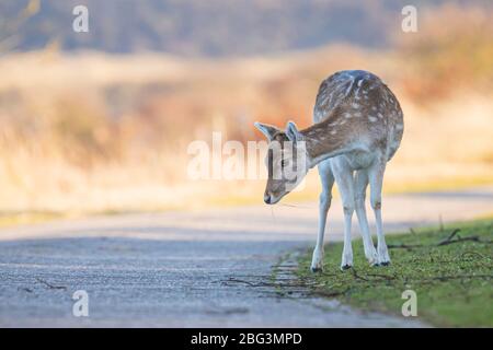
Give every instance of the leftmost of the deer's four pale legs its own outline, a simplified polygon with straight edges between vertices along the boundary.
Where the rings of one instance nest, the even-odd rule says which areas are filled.
[[[325,233],[326,213],[331,207],[332,201],[332,186],[334,185],[334,175],[330,161],[323,161],[319,164],[319,175],[322,183],[322,192],[320,194],[319,205],[319,233],[317,235],[317,245],[313,249],[313,257],[311,259],[311,271],[321,271],[323,268],[323,236]]]

